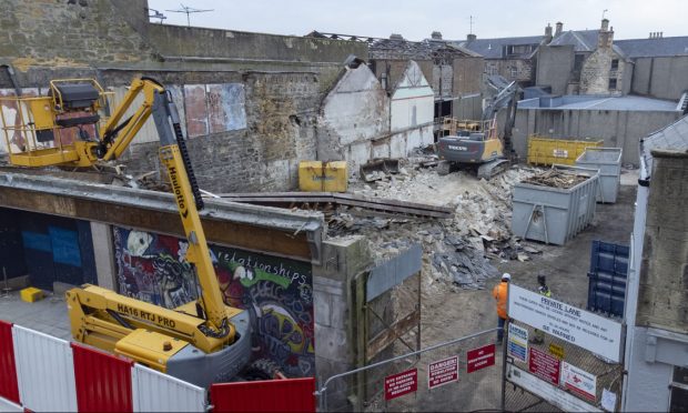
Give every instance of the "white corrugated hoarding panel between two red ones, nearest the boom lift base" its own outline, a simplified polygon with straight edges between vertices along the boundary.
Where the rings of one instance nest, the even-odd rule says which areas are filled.
[[[205,390],[141,364],[131,370],[134,412],[205,412]]]

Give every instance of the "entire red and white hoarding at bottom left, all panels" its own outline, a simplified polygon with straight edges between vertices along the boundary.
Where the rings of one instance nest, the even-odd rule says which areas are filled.
[[[315,412],[315,380],[191,383],[0,320],[0,412]]]

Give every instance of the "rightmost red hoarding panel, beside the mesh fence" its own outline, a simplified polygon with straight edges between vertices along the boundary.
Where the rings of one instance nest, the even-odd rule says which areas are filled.
[[[315,412],[315,379],[220,383],[210,389],[213,412]]]

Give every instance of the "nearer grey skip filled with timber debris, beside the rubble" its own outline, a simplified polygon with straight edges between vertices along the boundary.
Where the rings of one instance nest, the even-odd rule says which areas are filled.
[[[564,245],[595,216],[599,172],[568,165],[552,165],[564,173],[587,179],[569,189],[517,183],[514,185],[512,232],[514,235]]]

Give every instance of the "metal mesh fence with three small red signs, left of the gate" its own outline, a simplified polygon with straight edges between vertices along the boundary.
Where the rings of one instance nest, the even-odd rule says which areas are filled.
[[[497,411],[502,347],[490,329],[333,375],[320,410],[365,412]]]

